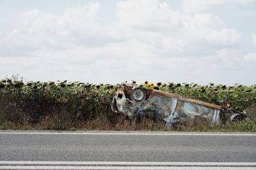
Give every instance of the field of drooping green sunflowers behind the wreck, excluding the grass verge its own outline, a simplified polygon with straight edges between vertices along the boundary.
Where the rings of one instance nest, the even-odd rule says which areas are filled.
[[[136,84],[135,81],[132,81]],[[137,85],[137,84],[136,84]],[[180,96],[214,103],[237,111],[256,103],[256,85],[198,85],[196,83],[145,83],[148,89],[163,90]],[[88,121],[104,119],[116,124],[118,115],[111,111],[116,85],[79,81],[0,80],[0,125],[51,124],[45,129],[79,127]]]

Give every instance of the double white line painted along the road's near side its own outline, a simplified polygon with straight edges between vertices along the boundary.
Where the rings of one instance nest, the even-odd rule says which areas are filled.
[[[256,162],[0,161],[0,169],[256,169]]]

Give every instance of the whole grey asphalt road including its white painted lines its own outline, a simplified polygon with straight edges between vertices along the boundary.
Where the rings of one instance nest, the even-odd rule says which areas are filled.
[[[255,162],[256,134],[0,131],[0,169],[256,169]]]

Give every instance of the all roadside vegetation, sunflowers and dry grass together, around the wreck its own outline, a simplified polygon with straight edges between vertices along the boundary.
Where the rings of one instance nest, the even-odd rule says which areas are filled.
[[[136,83],[135,81],[132,83]],[[256,103],[256,85],[197,85],[196,83],[145,83],[180,96],[243,111]],[[150,118],[125,120],[111,111],[115,85],[79,81],[23,81],[13,76],[0,80],[0,129],[244,131],[255,132],[255,114],[243,122],[220,126],[192,122],[170,129]]]

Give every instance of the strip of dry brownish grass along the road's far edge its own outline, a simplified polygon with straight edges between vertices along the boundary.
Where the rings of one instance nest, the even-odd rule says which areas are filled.
[[[4,122],[0,129],[13,130],[101,130],[101,131],[197,131],[197,132],[256,132],[256,120],[246,119],[242,122],[227,122],[214,125],[209,122],[191,122],[187,125],[164,127],[164,122],[150,118],[127,120],[121,115],[109,121],[107,117],[98,117],[86,122],[72,123],[66,117],[45,117],[38,124]]]

